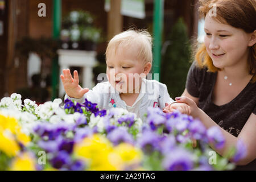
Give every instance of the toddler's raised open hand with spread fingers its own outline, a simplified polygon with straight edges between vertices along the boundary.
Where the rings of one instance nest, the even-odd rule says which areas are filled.
[[[60,78],[63,82],[64,90],[69,97],[81,98],[89,91],[88,88],[83,89],[79,85],[79,76],[76,70],[74,71],[74,78],[72,78],[69,69],[63,69],[63,75],[60,75]]]

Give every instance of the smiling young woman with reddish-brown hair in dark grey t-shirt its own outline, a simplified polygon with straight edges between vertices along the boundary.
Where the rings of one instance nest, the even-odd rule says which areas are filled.
[[[176,101],[191,106],[192,116],[206,127],[220,127],[225,147],[212,146],[220,155],[242,140],[247,152],[236,169],[256,170],[256,1],[200,4],[206,36]]]

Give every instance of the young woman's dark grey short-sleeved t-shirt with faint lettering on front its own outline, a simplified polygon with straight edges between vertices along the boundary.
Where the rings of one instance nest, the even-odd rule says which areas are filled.
[[[236,98],[227,104],[217,106],[212,102],[216,78],[217,72],[207,72],[207,68],[200,69],[194,62],[187,75],[187,91],[191,96],[199,98],[199,108],[214,122],[237,137],[251,113],[256,114],[256,82],[249,82]],[[256,160],[246,166],[237,169],[256,170]]]

